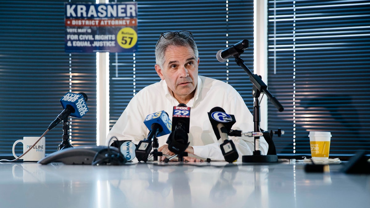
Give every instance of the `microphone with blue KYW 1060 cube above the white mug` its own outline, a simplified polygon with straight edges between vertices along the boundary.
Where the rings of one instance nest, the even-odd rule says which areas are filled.
[[[66,93],[60,99],[64,110],[50,123],[48,130],[56,127],[61,121],[66,120],[68,116],[82,118],[89,111],[86,101],[87,95],[85,93]]]

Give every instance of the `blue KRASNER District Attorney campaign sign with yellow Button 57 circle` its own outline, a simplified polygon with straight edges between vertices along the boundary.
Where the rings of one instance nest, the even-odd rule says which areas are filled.
[[[65,3],[65,52],[137,50],[137,3]]]

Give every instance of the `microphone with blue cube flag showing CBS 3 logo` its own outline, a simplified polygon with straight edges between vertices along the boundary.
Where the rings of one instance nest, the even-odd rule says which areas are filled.
[[[150,130],[148,137],[141,140],[135,148],[135,155],[138,161],[148,161],[148,155],[152,150],[153,137],[160,137],[169,134],[172,128],[172,122],[165,111],[158,111],[147,115],[144,120],[145,126]]]

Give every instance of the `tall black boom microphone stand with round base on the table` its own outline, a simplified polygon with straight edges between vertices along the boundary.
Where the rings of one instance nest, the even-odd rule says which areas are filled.
[[[242,51],[243,53],[243,51]],[[261,77],[257,74],[253,74],[249,68],[244,64],[244,61],[240,58],[240,53],[234,55],[235,62],[238,66],[242,67],[243,70],[249,75],[249,80],[253,84],[252,95],[254,97],[253,101],[253,123],[254,131],[260,132],[260,106],[259,106],[259,96],[261,93],[264,93],[271,103],[281,112],[284,110],[283,106],[279,101],[272,96],[272,94],[267,90],[267,85],[262,81]],[[277,155],[261,155],[260,150],[260,138],[255,137],[255,150],[253,155],[243,155],[243,162],[277,162]]]

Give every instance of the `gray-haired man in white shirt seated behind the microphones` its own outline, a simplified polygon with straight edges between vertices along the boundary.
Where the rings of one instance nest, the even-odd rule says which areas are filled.
[[[185,151],[211,160],[224,160],[220,149],[222,141],[218,141],[213,132],[208,112],[213,107],[221,107],[227,114],[235,115],[233,130],[253,131],[253,116],[242,97],[227,83],[198,76],[198,48],[189,31],[162,33],[156,44],[155,57],[155,70],[161,81],[145,87],[132,98],[109,132],[107,142],[115,136],[118,140],[132,140],[137,144],[149,133],[143,123],[147,115],[164,110],[171,118],[173,107],[183,103],[191,107],[190,144]],[[168,150],[167,138],[168,135],[158,137],[158,151],[174,155]],[[229,138],[239,153],[238,161],[242,160],[242,155],[253,154],[253,137]],[[263,137],[260,137],[260,150],[263,155],[268,151]],[[200,161],[191,156],[184,160]]]

